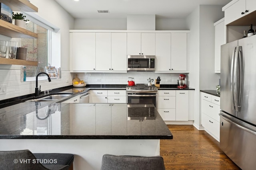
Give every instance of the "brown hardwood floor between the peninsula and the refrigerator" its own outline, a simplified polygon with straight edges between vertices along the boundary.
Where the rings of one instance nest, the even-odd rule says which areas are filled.
[[[219,142],[193,125],[168,125],[173,139],[160,140],[166,170],[240,170],[222,152]]]

